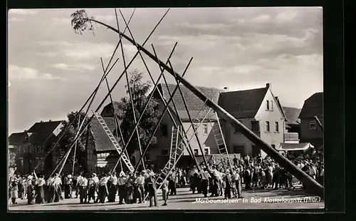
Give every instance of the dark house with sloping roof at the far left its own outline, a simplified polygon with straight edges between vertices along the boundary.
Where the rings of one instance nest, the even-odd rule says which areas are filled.
[[[16,153],[16,168],[19,173],[32,173],[33,169],[43,159],[43,156],[56,143],[58,134],[63,127],[62,121],[41,121],[35,123],[29,130],[12,133],[9,145]],[[55,153],[52,151],[38,167],[40,173],[48,173],[56,166]],[[51,170],[51,171],[49,171]]]

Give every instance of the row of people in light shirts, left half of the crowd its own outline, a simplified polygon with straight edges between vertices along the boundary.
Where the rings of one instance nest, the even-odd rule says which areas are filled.
[[[78,198],[80,203],[115,202],[132,204],[150,200],[150,206],[157,205],[155,195],[155,173],[143,170],[141,173],[81,173],[80,175],[53,175],[44,180],[36,173],[28,176],[14,175],[10,180],[11,203],[16,199],[27,199],[28,205]],[[63,197],[64,193],[64,197]],[[106,200],[108,199],[108,200]]]

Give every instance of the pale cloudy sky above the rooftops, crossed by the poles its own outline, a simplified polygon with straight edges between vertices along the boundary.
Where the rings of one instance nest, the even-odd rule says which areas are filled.
[[[13,9],[8,18],[9,135],[28,130],[40,120],[65,120],[78,111],[103,75],[117,45],[115,32],[94,24],[75,34],[70,14],[78,9]],[[134,9],[120,9],[128,21]],[[85,9],[88,16],[117,27],[114,9]],[[130,31],[142,44],[167,9],[140,8]],[[117,9],[120,29],[125,21]],[[125,34],[130,36],[130,32]],[[157,56],[171,58],[174,71],[182,73],[193,57],[185,78],[195,86],[228,87],[230,91],[262,88],[271,83],[282,106],[302,108],[313,93],[323,91],[323,9],[308,8],[173,8],[145,44]],[[123,41],[126,64],[136,53]],[[154,81],[157,63],[143,56]],[[110,87],[124,70],[122,54],[108,75]],[[137,69],[150,77],[140,56],[128,71]],[[169,83],[174,78],[168,77]],[[112,99],[125,96],[125,78]],[[95,111],[108,88],[103,84],[95,97]],[[108,101],[105,104],[109,103]]]

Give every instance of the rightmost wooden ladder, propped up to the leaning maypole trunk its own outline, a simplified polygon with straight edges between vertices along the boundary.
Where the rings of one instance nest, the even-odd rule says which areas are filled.
[[[221,130],[219,116],[216,112],[215,112],[215,117],[216,117],[216,123],[212,123],[210,117],[209,117],[209,123],[211,125],[211,130],[213,130],[214,133],[216,145],[218,146],[219,154],[221,156],[221,163],[223,163],[224,168],[226,168],[226,165],[224,165],[224,161],[226,159],[229,168],[232,169],[231,159],[229,157],[229,151],[227,150],[224,134],[222,133]],[[224,158],[224,156],[226,157]]]

